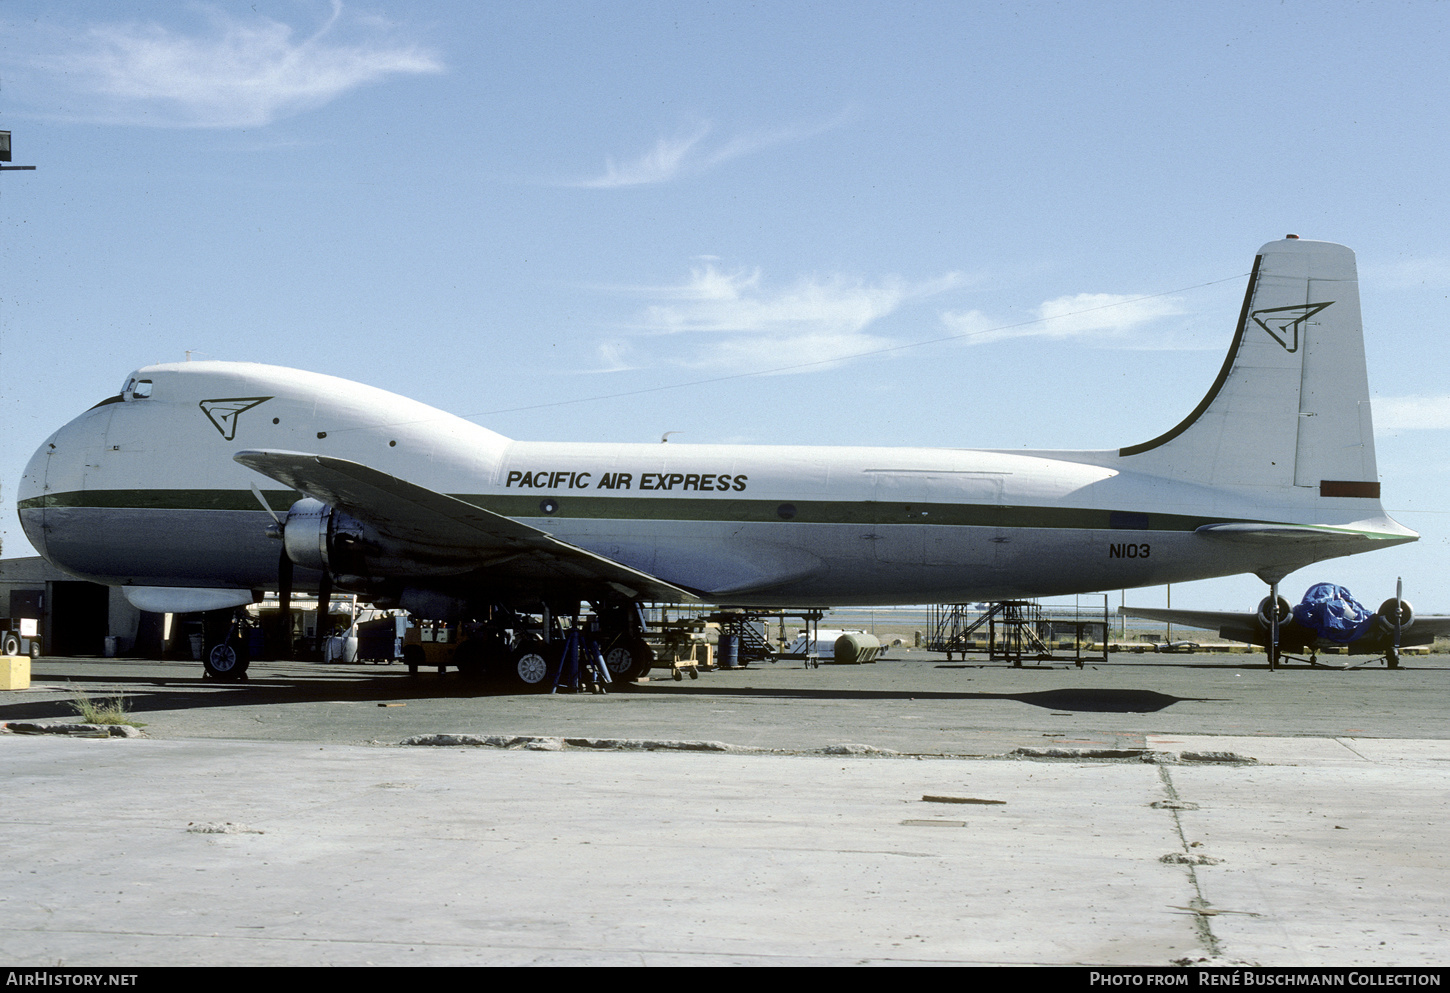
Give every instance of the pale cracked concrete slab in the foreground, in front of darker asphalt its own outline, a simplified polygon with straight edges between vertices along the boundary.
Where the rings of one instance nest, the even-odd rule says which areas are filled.
[[[1444,963],[1450,742],[1148,744],[1260,761],[3,735],[0,961]]]

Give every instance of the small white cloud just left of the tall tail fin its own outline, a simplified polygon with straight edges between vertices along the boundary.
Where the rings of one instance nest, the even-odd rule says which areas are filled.
[[[1164,317],[1188,313],[1183,302],[1172,296],[1132,296],[1122,293],[1077,293],[1038,304],[1024,319],[993,319],[980,310],[947,312],[942,323],[961,335],[969,345],[985,345],[1009,338],[1077,338],[1122,344]],[[1161,344],[1161,342],[1160,342]]]

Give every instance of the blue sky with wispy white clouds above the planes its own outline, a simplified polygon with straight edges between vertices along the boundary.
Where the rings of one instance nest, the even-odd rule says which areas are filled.
[[[30,554],[30,452],[188,351],[529,439],[1134,444],[1208,389],[1254,249],[1295,232],[1359,252],[1385,503],[1422,539],[1286,591],[1378,603],[1404,576],[1450,612],[1447,26],[1440,3],[3,0],[0,129],[38,167],[0,175],[4,554]]]

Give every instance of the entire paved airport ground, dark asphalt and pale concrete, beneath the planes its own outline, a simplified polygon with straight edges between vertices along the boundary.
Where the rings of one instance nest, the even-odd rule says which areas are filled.
[[[1450,658],[654,676],[38,660],[0,964],[1450,960]],[[22,734],[77,690],[145,736]]]

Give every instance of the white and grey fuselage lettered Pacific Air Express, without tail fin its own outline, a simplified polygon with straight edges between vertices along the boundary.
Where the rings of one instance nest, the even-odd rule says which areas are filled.
[[[193,362],[132,378],[149,396],[125,393],[61,428],[19,494],[36,548],[109,584],[274,589],[278,542],[252,487],[281,512],[302,494],[236,464],[242,449],[361,462],[747,606],[1047,596],[1330,554],[1195,533],[1222,522],[1409,533],[1378,500],[1340,502],[1327,522],[1272,489],[1135,473],[1116,452],[519,442],[296,370]],[[447,573],[423,580],[445,586]]]

